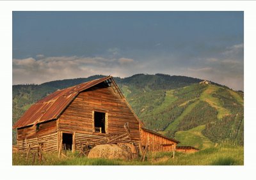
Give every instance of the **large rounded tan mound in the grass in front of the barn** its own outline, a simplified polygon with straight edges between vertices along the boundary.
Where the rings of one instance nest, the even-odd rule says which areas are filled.
[[[93,147],[88,158],[132,160],[138,157],[138,149],[129,143],[101,144]]]

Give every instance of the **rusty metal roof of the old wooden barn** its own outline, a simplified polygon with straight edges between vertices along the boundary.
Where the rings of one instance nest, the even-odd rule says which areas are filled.
[[[49,94],[49,96],[33,104],[23,116],[20,117],[17,123],[13,125],[13,128],[21,128],[57,119],[70,102],[76,98],[77,94],[108,79],[112,79],[112,77],[108,76],[95,79]]]

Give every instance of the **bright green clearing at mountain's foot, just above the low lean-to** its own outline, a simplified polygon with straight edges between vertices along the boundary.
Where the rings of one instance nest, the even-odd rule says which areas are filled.
[[[197,126],[188,131],[177,131],[175,139],[180,141],[179,146],[194,146],[198,149],[213,147],[214,143],[202,134],[205,125]]]

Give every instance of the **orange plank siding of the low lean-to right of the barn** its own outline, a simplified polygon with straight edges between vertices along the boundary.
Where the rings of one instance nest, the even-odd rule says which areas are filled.
[[[148,151],[173,151],[176,148],[177,142],[166,139],[154,133],[150,133],[143,129],[141,133],[141,145],[146,146],[148,142]]]

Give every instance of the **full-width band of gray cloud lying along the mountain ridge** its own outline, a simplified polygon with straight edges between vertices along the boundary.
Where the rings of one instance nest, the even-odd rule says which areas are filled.
[[[135,73],[167,73],[212,80],[243,90],[243,44],[223,48],[215,56],[182,58],[175,54],[127,57],[117,48],[96,57],[57,56],[13,59],[13,84],[40,84],[50,80],[88,77],[95,74],[128,77]],[[111,56],[109,56],[109,54]]]

